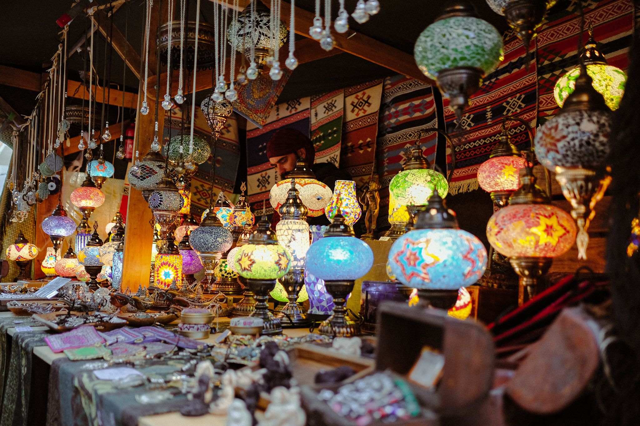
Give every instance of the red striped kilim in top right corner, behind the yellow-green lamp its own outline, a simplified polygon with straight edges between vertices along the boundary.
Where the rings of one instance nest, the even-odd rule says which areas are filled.
[[[626,70],[633,41],[634,6],[631,0],[584,0],[584,19],[593,24],[598,49],[609,65]],[[579,65],[580,2],[561,0],[547,12],[536,38],[538,46],[538,125],[552,118],[559,107],[554,86],[564,73]],[[588,34],[584,33],[584,42]]]

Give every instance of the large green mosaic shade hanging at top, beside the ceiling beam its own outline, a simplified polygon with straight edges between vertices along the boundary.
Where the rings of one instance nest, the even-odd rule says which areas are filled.
[[[486,75],[503,59],[502,36],[483,19],[445,18],[422,31],[413,54],[420,71],[434,80],[441,70],[460,67],[477,68]]]

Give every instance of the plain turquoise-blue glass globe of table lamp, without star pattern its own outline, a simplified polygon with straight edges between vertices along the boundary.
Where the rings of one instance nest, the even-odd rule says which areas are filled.
[[[371,247],[351,236],[321,238],[307,252],[307,271],[323,280],[357,280],[373,266]]]

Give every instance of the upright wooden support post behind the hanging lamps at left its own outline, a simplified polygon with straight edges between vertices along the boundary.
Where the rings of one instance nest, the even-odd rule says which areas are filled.
[[[166,1],[155,2],[151,9],[151,26],[149,37],[149,64],[154,69],[156,64],[156,33],[158,17],[166,16]],[[162,10],[161,10],[162,9]],[[143,31],[144,46],[144,31]],[[144,48],[143,48],[144,49]],[[148,100],[149,112],[140,114],[140,105],[144,98],[144,77],[140,80],[140,96],[136,109],[136,142],[134,151],[140,152],[140,157],[147,154],[154,137],[154,116],[156,115],[156,102]],[[152,92],[154,86],[149,84],[148,91]],[[160,109],[158,116],[158,135],[162,137],[164,126],[164,110]],[[151,266],[151,246],[154,239],[154,230],[150,225],[153,217],[151,210],[142,193],[134,188],[129,192],[129,204],[127,206],[127,230],[124,240],[124,259],[122,265],[122,290],[136,291],[138,285],[147,287]]]

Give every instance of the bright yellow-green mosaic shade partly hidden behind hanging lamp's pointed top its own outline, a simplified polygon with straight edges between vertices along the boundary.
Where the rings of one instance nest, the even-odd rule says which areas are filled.
[[[607,107],[611,110],[618,109],[622,95],[625,93],[627,74],[620,68],[605,64],[587,65],[587,74],[593,79],[593,88],[604,96]],[[580,75],[580,67],[574,68],[564,74],[554,87],[554,97],[559,107],[564,105],[567,96],[575,89],[575,80]]]

